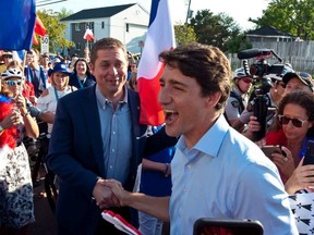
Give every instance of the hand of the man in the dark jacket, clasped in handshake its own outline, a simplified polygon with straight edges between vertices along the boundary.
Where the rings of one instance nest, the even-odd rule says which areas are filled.
[[[93,189],[93,196],[100,209],[110,207],[120,207],[118,198],[111,188],[106,185],[106,181],[99,178]]]

